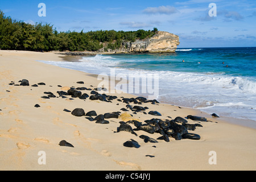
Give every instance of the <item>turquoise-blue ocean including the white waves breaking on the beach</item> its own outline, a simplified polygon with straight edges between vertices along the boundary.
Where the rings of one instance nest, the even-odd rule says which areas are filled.
[[[184,60],[184,61],[183,61]],[[96,55],[45,63],[87,73],[158,73],[158,101],[256,122],[256,47]]]

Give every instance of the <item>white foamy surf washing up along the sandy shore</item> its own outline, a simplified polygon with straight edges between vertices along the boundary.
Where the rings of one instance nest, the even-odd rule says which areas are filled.
[[[88,73],[105,73],[109,76],[110,69],[115,68],[115,74],[127,78],[129,74],[134,73],[158,73],[158,100],[162,102],[194,107],[209,114],[218,113],[228,117],[256,120],[256,80],[249,77],[234,77],[224,73],[126,69],[121,68],[124,60],[106,55],[86,56],[80,62],[43,62]]]

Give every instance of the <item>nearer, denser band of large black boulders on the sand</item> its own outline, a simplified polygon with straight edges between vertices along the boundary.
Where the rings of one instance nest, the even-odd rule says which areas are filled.
[[[105,113],[97,115],[96,111],[89,111],[88,113],[85,113],[84,109],[77,108],[72,111],[72,115],[75,115],[76,117],[81,116],[87,116],[87,119],[89,121],[96,121],[96,123],[100,124],[109,124],[109,121],[106,121],[106,119],[110,118],[119,118],[119,115],[121,112],[113,112],[113,113]],[[94,117],[94,118],[93,118]],[[192,116],[188,115],[186,117],[187,119],[192,119],[193,121],[200,121],[200,122],[208,122],[206,118],[204,117],[198,117],[198,116]],[[126,131],[131,134],[134,134],[135,136],[138,136],[135,131],[145,131],[148,134],[154,134],[159,133],[161,137],[154,139],[150,138],[147,135],[141,135],[139,138],[143,139],[145,143],[158,143],[158,140],[164,140],[166,142],[170,142],[170,138],[174,138],[175,140],[181,140],[181,139],[192,139],[192,140],[200,140],[201,137],[198,134],[189,133],[188,131],[195,131],[196,127],[203,127],[199,123],[195,124],[189,124],[187,119],[176,117],[175,119],[169,120],[169,119],[158,119],[158,118],[152,118],[150,120],[144,121],[144,123],[139,122],[137,120],[130,120],[127,122],[119,122],[120,126],[117,128],[117,131],[115,133],[119,133],[121,131]],[[133,125],[135,128],[131,126]],[[135,147],[138,148],[139,144],[135,140],[127,141],[123,143],[126,147]]]

